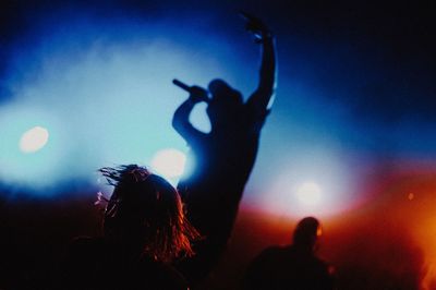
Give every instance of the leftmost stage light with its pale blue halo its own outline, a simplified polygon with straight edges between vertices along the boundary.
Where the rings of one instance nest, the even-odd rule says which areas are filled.
[[[56,114],[17,102],[0,108],[0,124],[1,181],[38,190],[71,173],[63,159],[69,135]]]

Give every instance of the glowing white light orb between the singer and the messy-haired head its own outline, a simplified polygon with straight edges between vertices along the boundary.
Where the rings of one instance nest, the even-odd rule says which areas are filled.
[[[167,179],[178,178],[184,171],[186,156],[177,149],[162,149],[152,159],[153,169]]]

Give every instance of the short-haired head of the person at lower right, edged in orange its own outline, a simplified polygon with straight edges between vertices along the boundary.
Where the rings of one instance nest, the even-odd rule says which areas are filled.
[[[319,221],[314,217],[305,217],[296,225],[293,232],[293,244],[314,251],[320,233],[322,228]]]

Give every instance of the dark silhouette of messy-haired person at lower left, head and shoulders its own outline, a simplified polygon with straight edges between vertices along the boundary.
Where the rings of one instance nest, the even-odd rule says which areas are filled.
[[[193,255],[199,234],[178,191],[136,165],[102,168],[114,191],[100,238],[77,238],[62,263],[57,289],[189,289],[171,266]]]

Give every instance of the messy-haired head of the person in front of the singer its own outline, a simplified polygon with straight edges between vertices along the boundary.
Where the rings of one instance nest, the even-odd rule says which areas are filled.
[[[180,195],[168,181],[136,165],[106,167],[100,172],[114,186],[105,210],[107,239],[162,262],[193,254],[191,241],[199,234],[186,220]]]

